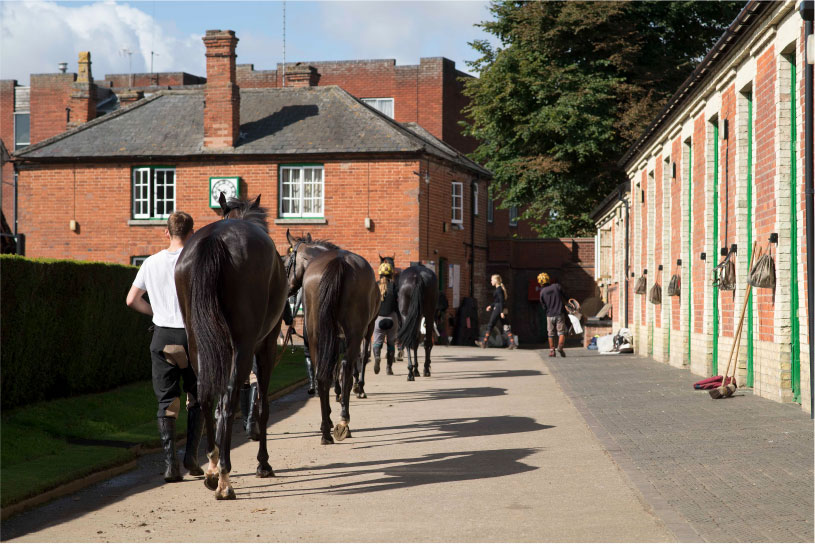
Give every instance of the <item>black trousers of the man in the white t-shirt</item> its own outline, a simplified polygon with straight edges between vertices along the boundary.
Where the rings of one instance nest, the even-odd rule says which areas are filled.
[[[189,364],[181,369],[167,361],[164,356],[164,346],[184,346],[189,356],[187,346],[187,332],[184,329],[156,326],[153,331],[153,340],[150,342],[150,358],[153,361],[153,392],[158,400],[157,417],[164,417],[167,408],[176,398],[181,396],[181,380],[184,380],[184,392],[198,399],[198,382],[195,372]],[[192,403],[192,400],[190,400]]]

